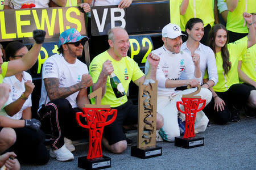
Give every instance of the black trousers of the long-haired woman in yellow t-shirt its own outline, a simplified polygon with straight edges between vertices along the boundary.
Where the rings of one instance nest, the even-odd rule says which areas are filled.
[[[233,84],[228,91],[216,92],[216,94],[225,102],[224,110],[214,110],[214,99],[205,107],[204,113],[212,118],[216,124],[226,124],[230,120],[233,108],[241,109],[247,103],[250,96],[250,88],[246,84]]]

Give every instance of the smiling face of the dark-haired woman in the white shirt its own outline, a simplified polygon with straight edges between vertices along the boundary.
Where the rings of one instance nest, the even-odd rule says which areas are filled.
[[[186,31],[188,33],[189,38],[191,38],[194,41],[200,41],[204,36],[204,25],[201,22],[195,23],[191,30],[187,28]]]

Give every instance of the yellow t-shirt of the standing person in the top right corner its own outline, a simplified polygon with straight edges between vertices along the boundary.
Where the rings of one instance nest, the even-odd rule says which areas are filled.
[[[226,0],[224,0],[226,2]],[[246,10],[247,6],[247,10]],[[246,10],[246,11],[245,11]],[[243,27],[243,12],[256,12],[256,1],[255,0],[238,0],[236,9],[233,12],[228,12],[228,18],[226,23],[226,29],[232,32],[248,33],[248,28]]]

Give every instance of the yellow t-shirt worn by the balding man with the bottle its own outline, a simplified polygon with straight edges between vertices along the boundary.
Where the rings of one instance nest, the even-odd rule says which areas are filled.
[[[98,76],[100,76],[102,70],[102,64],[107,59],[112,61],[112,65],[114,67],[114,74],[117,75],[127,94],[127,90],[129,88],[131,80],[133,80],[134,82],[135,80],[141,78],[144,73],[141,71],[141,69],[139,69],[137,62],[135,62],[130,57],[126,56],[123,57],[120,61],[116,61],[109,55],[108,50],[106,50],[105,52],[93,58],[93,61],[90,63],[89,72],[92,76],[93,83],[97,82]],[[91,101],[92,104],[95,104],[95,100]],[[101,104],[110,104],[111,107],[118,107],[119,105],[126,103],[126,101],[126,95],[118,99],[117,97],[115,97],[114,91],[110,84],[110,78],[108,76],[108,79],[106,81],[106,92],[104,97],[102,97]]]

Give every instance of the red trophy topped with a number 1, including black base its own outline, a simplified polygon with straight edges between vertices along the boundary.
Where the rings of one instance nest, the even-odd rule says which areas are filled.
[[[89,130],[89,151],[87,156],[78,159],[78,167],[84,169],[102,169],[111,167],[111,159],[102,155],[101,139],[104,126],[112,124],[117,117],[117,110],[110,110],[110,105],[100,105],[102,88],[92,92],[89,99],[96,97],[96,104],[85,104],[82,112],[76,113],[76,121],[83,128]],[[106,122],[109,115],[113,117]],[[80,117],[86,118],[87,125],[80,121]]]

